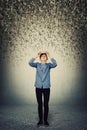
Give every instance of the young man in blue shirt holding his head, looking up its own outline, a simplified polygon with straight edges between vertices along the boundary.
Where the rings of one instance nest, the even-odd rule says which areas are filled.
[[[40,59],[40,62],[34,62],[36,58]],[[47,63],[48,57],[51,62]],[[48,112],[49,112],[49,98],[50,98],[50,69],[57,66],[57,62],[54,58],[50,57],[48,52],[41,53],[39,52],[35,58],[31,58],[29,65],[36,68],[36,81],[34,86],[36,87],[36,98],[38,103],[38,116],[39,121],[37,125],[48,126]],[[43,122],[43,103],[42,103],[42,94],[44,96],[44,122]]]

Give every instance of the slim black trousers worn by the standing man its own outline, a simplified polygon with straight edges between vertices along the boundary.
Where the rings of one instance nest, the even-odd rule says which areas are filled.
[[[43,114],[43,98],[44,98],[44,114]],[[36,98],[38,103],[38,116],[39,120],[47,121],[48,119],[48,112],[49,112],[49,98],[50,98],[50,88],[36,88]]]

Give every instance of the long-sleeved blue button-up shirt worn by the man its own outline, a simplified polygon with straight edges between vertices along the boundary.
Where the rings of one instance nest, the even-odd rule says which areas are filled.
[[[36,80],[34,86],[36,88],[50,88],[50,69],[57,66],[57,62],[54,58],[51,58],[49,63],[34,62],[35,58],[31,58],[29,65],[36,68]]]

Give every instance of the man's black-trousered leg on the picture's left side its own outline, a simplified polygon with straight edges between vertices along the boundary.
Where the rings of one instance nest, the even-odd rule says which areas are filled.
[[[43,122],[42,89],[36,88],[36,98],[37,98],[37,103],[38,103],[39,121]]]

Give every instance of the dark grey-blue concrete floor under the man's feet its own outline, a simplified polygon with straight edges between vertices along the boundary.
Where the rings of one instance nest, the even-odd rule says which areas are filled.
[[[50,105],[49,127],[37,127],[37,105],[0,106],[0,130],[87,130],[87,109]]]

